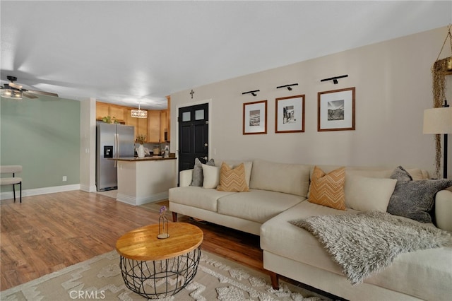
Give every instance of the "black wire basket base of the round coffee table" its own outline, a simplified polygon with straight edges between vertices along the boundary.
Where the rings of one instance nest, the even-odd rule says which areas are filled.
[[[158,261],[138,261],[121,256],[119,266],[126,287],[149,299],[172,296],[196,276],[201,249]]]

